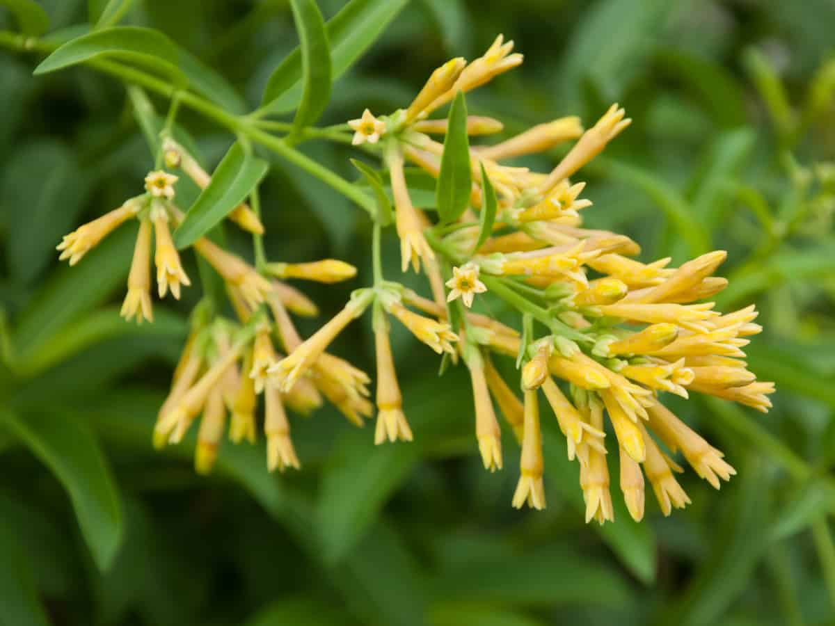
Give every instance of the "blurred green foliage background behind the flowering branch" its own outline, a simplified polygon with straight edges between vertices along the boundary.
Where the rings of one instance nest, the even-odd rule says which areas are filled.
[[[87,22],[83,0],[42,4],[51,28]],[[342,5],[319,4],[326,17]],[[138,0],[125,23],[169,34],[253,105],[297,43],[281,0]],[[3,8],[0,28],[14,28]],[[469,96],[472,113],[513,133],[564,114],[591,124],[620,102],[634,123],[582,173],[587,223],[638,240],[642,260],[729,251],[719,303],[762,311],[749,362],[777,381],[774,409],[672,403],[739,475],[714,492],[686,472],[692,505],[665,518],[648,494],[640,525],[615,482],[617,520],[602,528],[583,523],[576,467],[544,407],[549,507],[512,509],[515,443],[503,472],[484,472],[466,372],[438,378],[434,354],[405,334],[394,348],[412,444],[374,447],[372,429],[326,408],[291,417],[301,472],[268,475],[262,444],[226,445],[211,477],[193,472],[193,440],[154,452],[199,290],[156,305],[154,326],[131,326],[118,318],[130,227],[72,271],[53,250],[139,193],[148,149],[113,79],[88,68],[33,78],[37,54],[0,53],[0,622],[835,623],[833,28],[829,0],[412,0],[335,85],[323,123],[385,113],[446,58],[474,58],[504,33],[525,63]],[[215,164],[230,136],[187,111],[179,121]],[[351,149],[303,149],[356,177]],[[304,285],[326,319],[370,275],[370,225],[273,161],[271,259],[360,270],[346,285]],[[229,245],[248,255],[239,235],[229,229]],[[385,252],[394,277],[393,234]],[[336,351],[372,371],[371,346],[364,320]]]

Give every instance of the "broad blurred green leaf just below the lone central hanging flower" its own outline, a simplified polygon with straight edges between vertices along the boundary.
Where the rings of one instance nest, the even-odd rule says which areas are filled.
[[[326,563],[352,551],[416,462],[412,445],[375,447],[365,432],[342,439],[322,473],[316,511]]]

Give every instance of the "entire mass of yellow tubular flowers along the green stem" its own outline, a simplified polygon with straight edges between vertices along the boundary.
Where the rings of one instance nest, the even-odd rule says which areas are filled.
[[[609,452],[619,459],[620,490],[636,520],[644,515],[645,480],[665,515],[690,502],[674,477],[682,471],[671,457],[678,451],[716,488],[720,479],[735,473],[719,450],[661,403],[665,392],[686,398],[696,391],[760,411],[771,406],[767,396],[773,384],[756,380],[741,350],[747,337],[762,330],[754,322],[757,312],[751,306],[722,315],[714,303],[704,301],[727,285],[714,275],[726,253],[711,252],[679,267],[671,267],[671,259],[643,263],[631,258],[640,246],[630,238],[582,227],[581,211],[591,203],[581,197],[584,183],[573,177],[630,124],[624,109],[612,105],[590,129],[567,117],[495,144],[471,146],[469,206],[452,224],[433,223],[412,203],[406,164],[437,177],[444,145],[433,135],[451,132],[448,120],[430,116],[458,93],[522,63],[513,47],[499,36],[474,61],[455,58],[435,70],[406,109],[379,118],[366,109],[345,127],[353,131],[352,144],[367,144],[363,149],[384,164],[402,271],[409,266],[422,271],[431,298],[384,280],[376,256],[373,285],[354,291],[336,316],[302,339],[290,313],[315,315],[316,306],[283,280],[347,280],[356,273],[351,265],[265,261],[256,268],[209,240],[195,242],[196,252],[225,280],[238,319],[195,311],[190,339],[154,427],[157,446],[180,442],[202,414],[195,463],[198,471],[208,472],[227,413],[233,441],[255,440],[256,399],[263,395],[267,465],[271,470],[299,467],[285,406],[306,414],[326,399],[357,426],[372,414],[371,378],[328,351],[352,321],[371,310],[375,442],[413,437],[389,341],[394,318],[438,355],[460,359],[468,368],[478,450],[491,471],[503,467],[498,406],[521,448],[514,507],[526,502],[545,507],[540,390],[564,434],[569,459],[579,462],[586,521],[614,519]],[[466,121],[471,139],[502,129],[495,119],[469,116]],[[548,173],[507,163],[568,141],[574,145]],[[171,139],[164,144],[164,163],[200,187],[210,182],[210,175]],[[175,182],[173,174],[152,172],[146,194],[82,226],[58,246],[61,258],[72,265],[118,225],[131,217],[139,220],[125,317],[151,319],[152,227],[160,297],[171,290],[179,298],[181,285],[190,284],[169,229],[183,220],[175,204]],[[478,212],[493,193],[498,209],[485,232]],[[246,204],[228,217],[258,236],[264,232]],[[384,225],[379,220],[375,237]],[[375,240],[373,254],[378,250]],[[498,297],[518,310],[521,332],[470,310],[476,295],[479,300]],[[520,394],[494,366],[496,356],[516,359]]]

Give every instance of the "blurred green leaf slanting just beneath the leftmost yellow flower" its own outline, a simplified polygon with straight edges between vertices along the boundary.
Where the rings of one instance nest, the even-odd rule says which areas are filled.
[[[68,321],[91,310],[124,284],[138,225],[122,226],[90,250],[74,267],[64,266],[38,291],[18,317],[13,346],[21,362],[61,331]]]

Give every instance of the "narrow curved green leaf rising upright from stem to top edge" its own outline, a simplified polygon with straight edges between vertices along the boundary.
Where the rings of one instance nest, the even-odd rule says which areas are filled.
[[[293,119],[298,132],[321,115],[331,95],[331,51],[315,0],[290,0],[293,20],[301,42],[301,73],[304,91]]]

